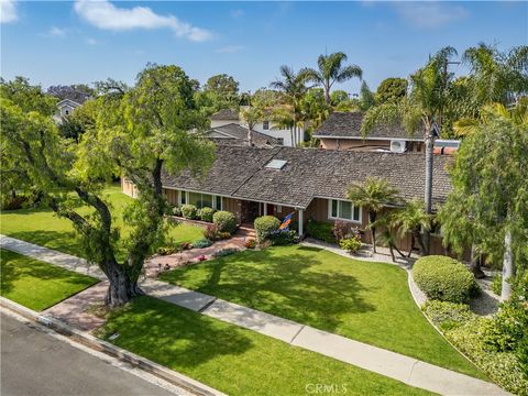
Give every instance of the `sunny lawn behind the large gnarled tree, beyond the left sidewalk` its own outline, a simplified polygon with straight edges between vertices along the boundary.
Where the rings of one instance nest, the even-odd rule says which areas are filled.
[[[111,211],[116,226],[121,229],[122,235],[130,230],[123,226],[122,213],[132,198],[121,193],[119,186],[108,187],[103,190],[105,196],[111,204]],[[88,207],[79,207],[81,215],[90,212]],[[0,232],[4,235],[23,241],[36,243],[42,246],[55,249],[59,252],[69,253],[79,257],[85,256],[79,240],[75,237],[72,222],[57,217],[53,210],[46,208],[21,209],[2,211],[0,215]],[[170,229],[169,235],[176,243],[193,242],[202,238],[202,229],[195,226],[180,223]],[[123,258],[123,252],[120,252]]]

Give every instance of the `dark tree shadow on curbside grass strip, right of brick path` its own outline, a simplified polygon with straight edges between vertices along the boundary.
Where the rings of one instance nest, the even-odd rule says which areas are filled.
[[[110,314],[107,338],[112,342],[172,369],[196,367],[219,355],[239,355],[252,348],[245,330],[153,297],[136,297]]]

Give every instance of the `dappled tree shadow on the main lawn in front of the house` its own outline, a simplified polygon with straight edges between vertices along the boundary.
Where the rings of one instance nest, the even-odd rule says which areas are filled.
[[[314,248],[298,248],[314,250]],[[316,249],[314,252],[320,250]],[[229,301],[329,331],[344,314],[375,310],[361,296],[369,288],[350,274],[317,271],[321,261],[299,253],[275,255],[275,250],[244,251],[235,255],[177,268],[166,280],[189,287],[186,279],[200,276],[191,288]]]

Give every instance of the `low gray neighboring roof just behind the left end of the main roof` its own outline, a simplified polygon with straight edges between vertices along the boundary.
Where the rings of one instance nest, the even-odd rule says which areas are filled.
[[[249,146],[248,128],[237,123],[228,123],[215,127],[206,132],[206,136],[217,144]],[[283,145],[279,139],[272,138],[264,133],[252,131],[252,145],[255,147],[274,147]]]

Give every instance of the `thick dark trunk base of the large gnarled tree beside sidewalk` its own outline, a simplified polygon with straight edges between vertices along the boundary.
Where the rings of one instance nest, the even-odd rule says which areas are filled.
[[[110,308],[120,307],[133,297],[144,295],[136,280],[132,280],[118,263],[107,263],[105,266],[110,286],[108,287],[105,304]]]

